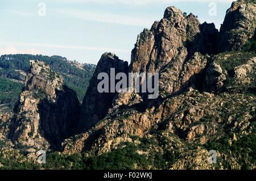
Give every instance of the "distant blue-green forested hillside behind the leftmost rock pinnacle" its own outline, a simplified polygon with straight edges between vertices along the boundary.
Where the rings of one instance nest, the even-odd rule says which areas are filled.
[[[31,54],[7,54],[0,57],[0,104],[16,102],[16,98],[22,91],[22,84],[25,75],[30,68],[30,60],[46,62],[52,70],[61,73],[64,77],[64,84],[76,91],[80,100],[89,85],[95,65],[80,64],[76,61],[68,61],[60,56],[43,56]]]

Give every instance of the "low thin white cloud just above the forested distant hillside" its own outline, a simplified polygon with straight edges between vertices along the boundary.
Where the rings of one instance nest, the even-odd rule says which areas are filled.
[[[1,42],[0,45],[8,45],[9,49],[2,49],[2,52],[14,52],[16,50],[15,46],[22,47],[44,47],[44,48],[58,48],[58,49],[77,49],[77,50],[96,50],[101,52],[123,52],[127,53],[130,50],[126,49],[118,49],[118,48],[104,48],[104,47],[87,47],[87,46],[76,46],[76,45],[57,45],[57,44],[40,44],[40,43],[9,43],[9,42]],[[30,49],[30,50],[32,50]],[[34,49],[35,50],[35,49]],[[21,52],[19,50],[18,52]],[[28,52],[28,51],[25,51]],[[35,51],[36,52],[36,51]],[[6,53],[5,53],[6,54]],[[39,54],[39,53],[37,53]]]

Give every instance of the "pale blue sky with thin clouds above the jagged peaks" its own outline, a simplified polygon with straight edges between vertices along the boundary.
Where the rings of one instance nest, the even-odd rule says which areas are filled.
[[[46,16],[38,15],[38,3]],[[217,15],[209,15],[215,2]],[[0,54],[60,55],[97,64],[104,52],[130,61],[131,49],[143,28],[163,17],[168,6],[214,22],[219,28],[229,0],[1,0]]]

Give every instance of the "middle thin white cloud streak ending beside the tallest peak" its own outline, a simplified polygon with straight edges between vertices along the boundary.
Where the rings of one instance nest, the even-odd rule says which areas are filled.
[[[72,18],[89,20],[94,22],[113,23],[139,27],[148,27],[152,24],[152,18],[146,15],[138,17],[113,14],[112,12],[105,11],[81,11],[73,9],[57,9],[54,12],[60,15],[71,16]]]

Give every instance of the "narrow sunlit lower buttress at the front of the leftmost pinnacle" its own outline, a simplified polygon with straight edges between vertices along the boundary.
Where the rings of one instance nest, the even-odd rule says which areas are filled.
[[[10,138],[19,149],[48,149],[49,142],[39,131],[40,115],[39,99],[34,98],[32,92],[24,91],[20,94],[19,107],[15,111],[11,124]]]

